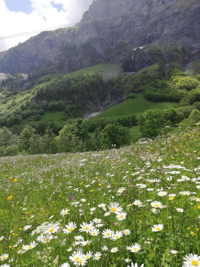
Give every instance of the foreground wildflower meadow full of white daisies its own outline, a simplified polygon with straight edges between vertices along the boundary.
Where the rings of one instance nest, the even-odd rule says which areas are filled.
[[[0,158],[0,266],[200,266],[199,141]]]

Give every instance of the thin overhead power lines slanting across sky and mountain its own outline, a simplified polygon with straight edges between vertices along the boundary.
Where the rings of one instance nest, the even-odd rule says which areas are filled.
[[[86,24],[86,23],[92,23],[92,22],[101,21],[101,20],[107,20],[107,19],[111,19],[111,18],[118,18],[118,17],[122,17],[122,16],[127,16],[127,15],[134,15],[134,14],[141,13],[141,12],[147,12],[147,11],[151,11],[151,10],[155,10],[155,9],[161,9],[161,8],[165,8],[165,7],[172,7],[172,6],[176,6],[176,5],[179,5],[179,4],[190,3],[190,2],[194,2],[194,1],[198,1],[198,0],[180,1],[180,2],[177,2],[175,4],[166,4],[166,5],[162,5],[162,6],[159,6],[159,7],[151,7],[151,8],[148,8],[148,9],[140,9],[140,10],[137,10],[137,11],[131,11],[131,12],[127,12],[127,13],[111,15],[111,16],[97,18],[97,19],[93,19],[93,20],[85,20],[85,21],[81,21],[81,22],[77,22],[77,23],[71,23],[71,24],[55,26],[55,27],[41,29],[41,30],[28,31],[28,32],[20,33],[20,34],[13,34],[13,35],[8,35],[8,36],[3,36],[3,37],[0,37],[0,40],[14,38],[14,37],[20,37],[20,36],[29,35],[29,34],[36,34],[36,33],[40,33],[40,32],[47,31],[47,30],[53,31],[53,30],[56,30],[58,28],[70,28],[71,26],[75,26],[75,25],[83,25],[83,24]]]

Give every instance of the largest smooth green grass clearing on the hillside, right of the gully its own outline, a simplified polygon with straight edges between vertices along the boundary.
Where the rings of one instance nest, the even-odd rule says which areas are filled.
[[[145,112],[148,109],[166,109],[177,106],[178,103],[175,102],[151,102],[146,100],[142,94],[139,94],[135,99],[128,99],[121,104],[118,104],[110,109],[97,115],[95,118],[103,117],[120,117],[126,114],[133,114],[139,112]]]

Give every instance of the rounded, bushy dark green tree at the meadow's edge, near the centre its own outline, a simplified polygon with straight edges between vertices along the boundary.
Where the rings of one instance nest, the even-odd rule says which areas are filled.
[[[101,132],[101,137],[104,147],[111,148],[116,145],[116,148],[119,148],[130,144],[131,134],[127,127],[115,123],[106,125]]]

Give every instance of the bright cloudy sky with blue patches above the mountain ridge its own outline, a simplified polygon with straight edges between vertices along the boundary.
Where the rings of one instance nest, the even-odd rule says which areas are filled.
[[[0,0],[0,37],[81,20],[93,0]],[[30,34],[0,40],[0,51],[24,42]]]

